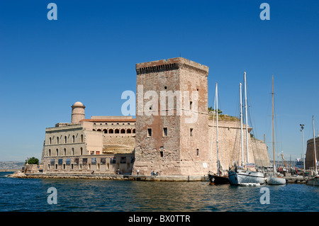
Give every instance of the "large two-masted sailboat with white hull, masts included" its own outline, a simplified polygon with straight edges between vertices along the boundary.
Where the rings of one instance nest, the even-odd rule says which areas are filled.
[[[247,163],[249,162],[248,157],[248,123],[247,123],[247,91],[246,91],[246,72],[244,72],[245,81],[245,116],[246,116],[246,146],[247,146]],[[228,179],[233,185],[243,186],[258,186],[264,183],[264,174],[259,171],[252,171],[251,169],[245,169],[244,164],[244,149],[243,149],[243,137],[242,137],[242,84],[240,83],[240,137],[241,137],[241,149],[242,149],[242,163],[238,167],[235,165],[235,169],[228,171]],[[238,169],[240,168],[240,169]]]

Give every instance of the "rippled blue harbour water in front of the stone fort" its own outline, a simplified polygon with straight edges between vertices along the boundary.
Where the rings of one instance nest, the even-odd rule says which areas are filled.
[[[0,172],[0,211],[284,211],[318,212],[319,188],[285,186],[209,186],[204,182],[107,181],[87,179],[14,179]],[[47,189],[57,189],[48,204]],[[269,204],[262,204],[262,187]]]

